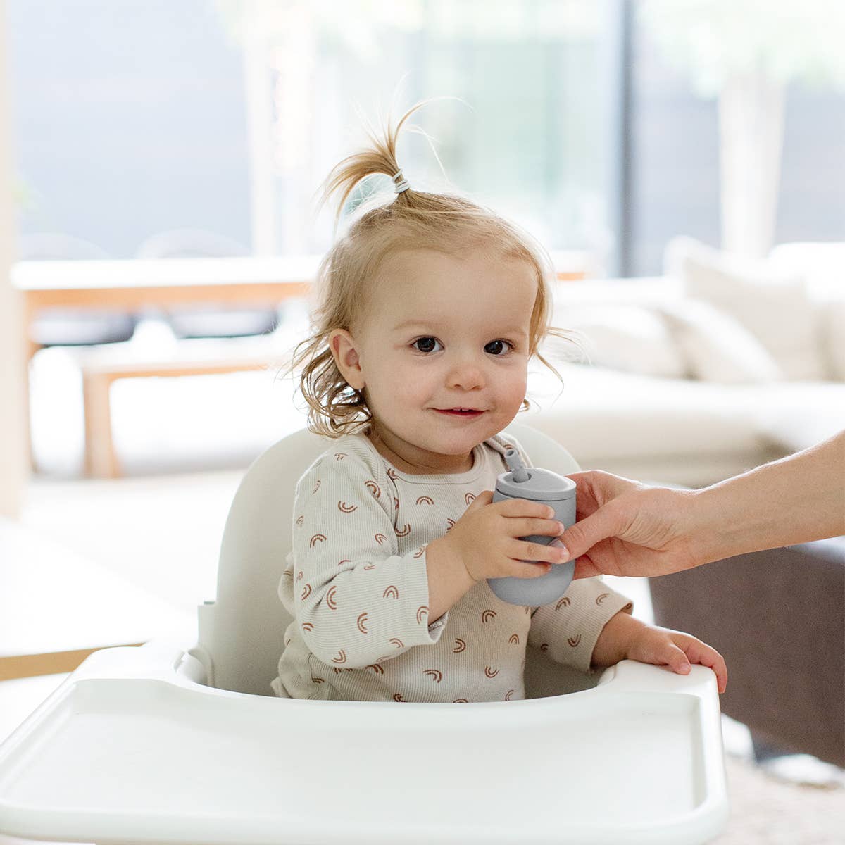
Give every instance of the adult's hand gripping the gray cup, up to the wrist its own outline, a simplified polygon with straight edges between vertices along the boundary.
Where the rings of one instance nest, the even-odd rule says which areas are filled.
[[[668,575],[704,562],[695,548],[695,491],[649,488],[608,472],[575,472],[577,519],[560,536],[575,578]]]

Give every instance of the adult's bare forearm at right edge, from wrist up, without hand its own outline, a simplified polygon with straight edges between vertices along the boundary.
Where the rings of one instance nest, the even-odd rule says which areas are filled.
[[[845,534],[845,432],[704,488],[690,509],[701,562]]]

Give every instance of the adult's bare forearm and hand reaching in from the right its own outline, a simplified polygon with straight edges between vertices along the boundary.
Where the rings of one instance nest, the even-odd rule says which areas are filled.
[[[701,490],[576,472],[577,516],[560,537],[575,578],[667,575],[711,560],[845,535],[845,431]]]

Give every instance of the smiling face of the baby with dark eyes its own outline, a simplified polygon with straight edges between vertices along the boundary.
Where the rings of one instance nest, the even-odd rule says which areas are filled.
[[[373,289],[354,341],[377,441],[406,472],[468,469],[525,398],[531,265],[413,250],[387,259]]]

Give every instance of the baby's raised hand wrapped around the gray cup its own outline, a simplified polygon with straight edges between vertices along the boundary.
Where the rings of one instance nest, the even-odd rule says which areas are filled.
[[[460,559],[474,581],[508,575],[538,578],[553,564],[564,562],[560,548],[520,539],[532,535],[557,537],[564,530],[552,518],[554,510],[548,504],[526,499],[492,502],[492,491],[479,493],[450,531],[434,541],[455,561]],[[538,563],[526,563],[534,560]]]

